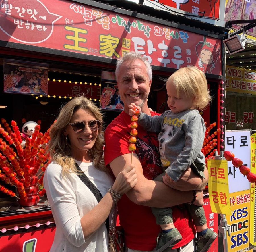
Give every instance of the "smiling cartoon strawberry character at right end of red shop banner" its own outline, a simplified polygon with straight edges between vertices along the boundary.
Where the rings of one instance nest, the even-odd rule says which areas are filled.
[[[217,50],[210,42],[206,42],[206,36],[204,36],[204,41],[196,45],[196,53],[199,58],[199,67],[203,68],[205,73],[212,74],[212,69],[215,68],[220,56],[220,48]]]

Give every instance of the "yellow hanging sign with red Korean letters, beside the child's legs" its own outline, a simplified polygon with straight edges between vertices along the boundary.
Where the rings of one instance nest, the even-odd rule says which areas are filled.
[[[228,161],[208,159],[207,167],[212,212],[231,215],[228,192]]]

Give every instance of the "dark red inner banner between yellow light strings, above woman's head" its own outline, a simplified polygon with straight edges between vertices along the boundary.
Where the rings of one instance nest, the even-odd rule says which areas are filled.
[[[53,82],[48,81],[48,95],[56,96],[80,96],[83,95],[92,99],[100,99],[100,86],[90,84],[75,84],[69,82]]]

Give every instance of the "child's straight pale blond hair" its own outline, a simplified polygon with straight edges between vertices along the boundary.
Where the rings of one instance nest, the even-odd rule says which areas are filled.
[[[195,97],[195,109],[205,109],[212,100],[205,74],[196,66],[182,67],[174,72],[166,81],[166,86],[170,84],[175,86],[178,98],[181,93],[186,98]]]

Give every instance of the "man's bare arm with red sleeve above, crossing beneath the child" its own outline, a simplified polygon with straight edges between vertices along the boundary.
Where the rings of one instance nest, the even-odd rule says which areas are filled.
[[[131,153],[121,155],[110,162],[110,167],[115,176],[131,163]],[[172,207],[182,203],[191,202],[193,200],[193,192],[177,191],[166,186],[162,182],[148,180],[143,175],[143,170],[139,158],[133,154],[132,163],[135,165],[138,182],[135,187],[126,193],[127,197],[136,204],[149,207]],[[193,184],[197,183],[194,189],[201,185],[201,179],[192,180]],[[187,179],[187,186],[191,182]]]

